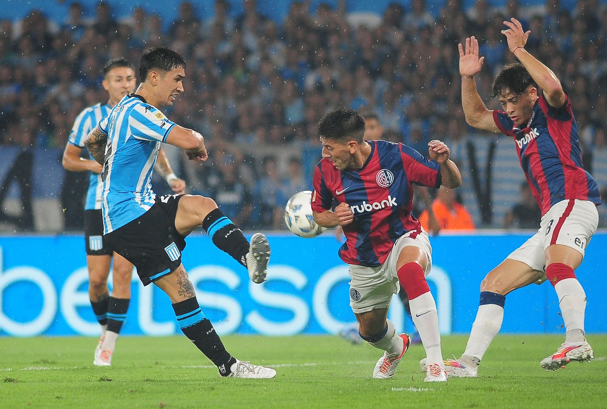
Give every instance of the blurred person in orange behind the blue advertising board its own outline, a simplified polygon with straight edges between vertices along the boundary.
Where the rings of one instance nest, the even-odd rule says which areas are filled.
[[[441,186],[432,202],[432,209],[441,225],[441,230],[474,230],[472,216],[455,200],[455,189]],[[419,222],[426,231],[430,231],[428,212],[424,210],[419,215]]]

